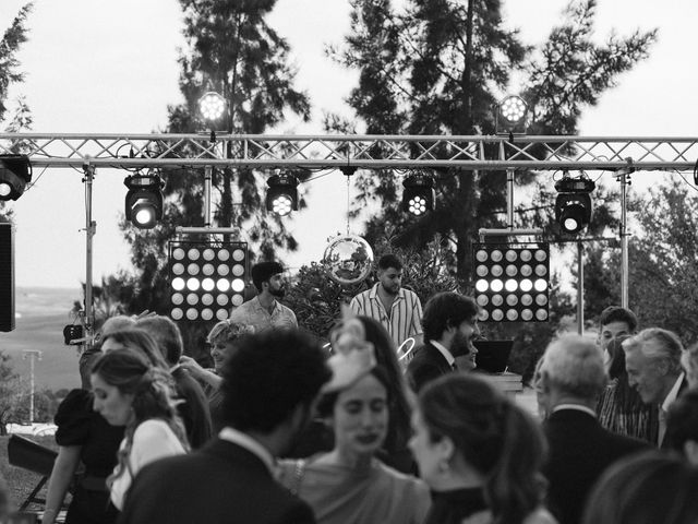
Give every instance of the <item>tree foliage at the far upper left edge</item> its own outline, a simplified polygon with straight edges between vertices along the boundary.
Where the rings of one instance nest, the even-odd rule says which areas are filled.
[[[19,70],[20,60],[17,52],[27,39],[26,20],[29,15],[33,2],[20,9],[17,15],[12,21],[0,39],[0,124],[4,124],[5,132],[16,133],[32,127],[32,114],[24,97],[20,96],[15,100],[15,107],[8,118],[8,92],[12,84],[24,81],[24,73]],[[11,144],[12,151],[21,151],[22,144]],[[10,222],[12,211],[5,209],[4,202],[0,201],[0,222]]]

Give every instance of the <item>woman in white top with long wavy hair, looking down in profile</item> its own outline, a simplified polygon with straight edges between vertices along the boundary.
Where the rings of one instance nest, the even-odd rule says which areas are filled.
[[[117,467],[107,478],[111,502],[121,510],[143,466],[186,453],[189,444],[172,402],[171,378],[143,353],[109,350],[95,361],[89,380],[95,412],[112,426],[125,426]]]

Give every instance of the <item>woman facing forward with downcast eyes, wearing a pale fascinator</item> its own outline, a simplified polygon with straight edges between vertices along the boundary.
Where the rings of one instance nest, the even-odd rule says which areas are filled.
[[[388,432],[388,373],[358,319],[346,319],[332,338],[333,379],[317,409],[333,428],[334,449],[281,461],[279,480],[313,508],[318,524],[421,523],[431,503],[426,486],[375,457]]]

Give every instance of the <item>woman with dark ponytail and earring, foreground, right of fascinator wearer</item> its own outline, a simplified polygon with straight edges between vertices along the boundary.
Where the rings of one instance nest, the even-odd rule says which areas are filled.
[[[539,425],[482,379],[452,373],[426,384],[412,415],[414,453],[432,489],[425,524],[549,524]]]

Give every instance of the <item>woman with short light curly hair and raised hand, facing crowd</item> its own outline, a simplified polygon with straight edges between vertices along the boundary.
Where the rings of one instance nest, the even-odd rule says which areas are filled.
[[[208,398],[214,433],[220,431],[226,425],[222,416],[222,393],[220,392],[222,365],[236,350],[238,340],[252,333],[254,333],[254,327],[251,325],[222,320],[213,326],[206,337],[210,346],[210,357],[214,360],[213,369],[202,368],[192,357],[182,355],[179,359],[180,366],[189,371],[204,388],[204,393]]]

